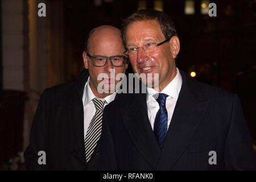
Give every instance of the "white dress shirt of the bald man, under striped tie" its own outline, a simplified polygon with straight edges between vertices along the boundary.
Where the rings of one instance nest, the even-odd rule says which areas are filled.
[[[96,109],[92,101],[93,98],[96,98],[96,96],[94,96],[92,89],[90,89],[89,81],[90,81],[90,77],[88,78],[84,86],[84,94],[82,94],[82,104],[84,105],[84,139],[85,139],[90,121],[92,120],[93,115],[96,113]],[[116,94],[117,92],[114,92],[113,94],[110,94],[104,99],[103,98],[99,98],[99,99],[105,100],[107,102],[107,104],[104,104],[104,107],[105,107],[115,99]]]

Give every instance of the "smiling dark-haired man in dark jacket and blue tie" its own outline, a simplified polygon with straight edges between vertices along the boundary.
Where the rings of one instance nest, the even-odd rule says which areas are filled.
[[[134,72],[147,77],[142,79],[147,93],[120,94],[105,108],[98,168],[256,169],[237,95],[176,68],[180,42],[172,19],[141,10],[125,20],[122,30]]]

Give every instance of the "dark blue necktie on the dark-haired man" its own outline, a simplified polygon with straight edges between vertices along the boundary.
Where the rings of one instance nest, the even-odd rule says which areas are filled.
[[[156,139],[158,139],[158,143],[160,148],[162,147],[164,143],[164,138],[167,134],[167,123],[168,123],[168,114],[166,110],[166,98],[167,94],[159,93],[158,98],[156,101],[158,101],[159,104],[159,110],[156,113],[155,122],[154,122],[154,133],[156,136]]]

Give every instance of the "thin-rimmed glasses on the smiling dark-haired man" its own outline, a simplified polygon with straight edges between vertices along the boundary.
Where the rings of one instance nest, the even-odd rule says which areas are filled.
[[[142,47],[134,47],[134,48],[130,48],[125,50],[123,53],[125,53],[125,55],[127,56],[136,56],[138,53],[138,49],[142,48],[143,51],[145,52],[153,52],[156,51],[156,49],[158,48],[158,46],[161,46],[162,44],[169,42],[171,38],[168,38],[166,40],[164,40],[163,42],[160,42],[158,44],[156,43],[147,43],[146,45],[142,46]]]

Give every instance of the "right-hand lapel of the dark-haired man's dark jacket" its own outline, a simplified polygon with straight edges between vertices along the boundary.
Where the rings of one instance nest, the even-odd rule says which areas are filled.
[[[170,170],[187,148],[203,120],[210,99],[205,98],[198,83],[183,76],[179,98],[159,158],[157,170]]]

